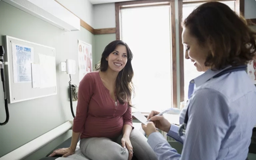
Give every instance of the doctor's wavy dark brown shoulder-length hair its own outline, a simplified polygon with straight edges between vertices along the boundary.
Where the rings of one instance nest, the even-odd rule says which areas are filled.
[[[256,32],[249,28],[244,17],[220,2],[204,3],[183,21],[183,27],[207,46],[205,66],[221,70],[226,66],[245,65],[256,53]]]

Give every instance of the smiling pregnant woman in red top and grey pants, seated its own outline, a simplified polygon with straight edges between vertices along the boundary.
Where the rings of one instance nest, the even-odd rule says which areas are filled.
[[[74,154],[80,136],[81,152],[90,160],[131,160],[133,154],[139,160],[157,160],[146,137],[132,125],[132,57],[121,40],[105,47],[96,71],[79,84],[70,147],[50,156]]]

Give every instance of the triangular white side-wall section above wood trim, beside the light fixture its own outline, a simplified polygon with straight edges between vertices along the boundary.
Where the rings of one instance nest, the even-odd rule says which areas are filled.
[[[93,5],[89,0],[57,0],[77,17],[93,27]]]

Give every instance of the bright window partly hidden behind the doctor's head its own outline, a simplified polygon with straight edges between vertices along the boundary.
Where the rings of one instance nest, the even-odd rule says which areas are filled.
[[[230,1],[220,1],[221,3],[226,4],[229,6],[233,11],[235,11],[235,0]],[[189,14],[198,6],[203,3],[184,3],[183,4],[183,12],[182,12],[182,21],[189,16]],[[180,37],[181,38],[181,37]],[[185,47],[183,48],[183,60],[184,60],[184,101],[188,100],[188,90],[189,90],[189,82],[190,80],[198,77],[199,75],[203,74],[204,72],[198,72],[191,62],[191,60],[185,59]]]

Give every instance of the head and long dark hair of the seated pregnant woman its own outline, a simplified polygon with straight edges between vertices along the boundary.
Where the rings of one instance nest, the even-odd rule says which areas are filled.
[[[96,67],[96,71],[101,71],[103,74],[108,72],[115,75],[116,80],[113,80],[111,87],[115,87],[116,98],[120,103],[128,102],[128,106],[131,105],[131,95],[133,92],[132,78],[134,71],[131,66],[131,60],[133,54],[129,46],[122,40],[115,40],[105,47],[102,53],[100,64]],[[103,83],[105,83],[104,78]],[[114,98],[114,94],[112,95]]]

